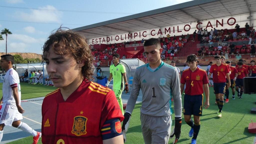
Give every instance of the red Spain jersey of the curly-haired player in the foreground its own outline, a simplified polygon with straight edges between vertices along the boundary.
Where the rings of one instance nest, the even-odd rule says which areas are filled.
[[[111,121],[116,119],[116,122]],[[102,143],[114,131],[122,134],[124,117],[114,92],[85,81],[66,101],[60,89],[48,94],[42,104],[42,143]],[[111,121],[111,124],[107,124]]]

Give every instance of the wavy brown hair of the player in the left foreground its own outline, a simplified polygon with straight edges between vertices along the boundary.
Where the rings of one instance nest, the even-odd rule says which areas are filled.
[[[87,39],[84,36],[72,32],[69,28],[60,27],[56,32],[52,33],[45,42],[42,48],[42,60],[47,58],[50,46],[54,53],[61,55],[61,57],[70,54],[78,64],[84,61],[81,74],[88,80],[94,79],[92,77],[94,58],[91,54]]]

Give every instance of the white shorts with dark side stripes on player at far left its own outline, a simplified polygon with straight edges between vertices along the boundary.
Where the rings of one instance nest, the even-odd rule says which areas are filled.
[[[0,124],[12,126],[13,121],[21,120],[22,114],[19,113],[17,107],[11,104],[4,103],[0,110]]]

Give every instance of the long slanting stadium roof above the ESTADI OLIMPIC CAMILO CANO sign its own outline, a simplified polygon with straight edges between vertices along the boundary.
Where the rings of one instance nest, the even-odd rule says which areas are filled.
[[[72,29],[87,39],[256,12],[255,0],[194,0]]]

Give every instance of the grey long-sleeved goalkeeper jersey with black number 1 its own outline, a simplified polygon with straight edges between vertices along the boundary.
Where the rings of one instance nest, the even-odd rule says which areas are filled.
[[[126,111],[132,113],[140,89],[142,90],[142,114],[155,117],[170,116],[173,97],[175,115],[182,115],[179,73],[175,67],[163,61],[154,71],[149,64],[138,67],[133,76],[132,92]]]

